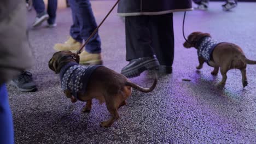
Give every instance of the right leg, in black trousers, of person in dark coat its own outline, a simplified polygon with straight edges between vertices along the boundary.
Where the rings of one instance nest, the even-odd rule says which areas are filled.
[[[174,57],[173,14],[150,16],[150,35],[160,70],[172,73]]]

